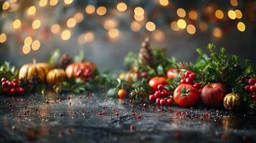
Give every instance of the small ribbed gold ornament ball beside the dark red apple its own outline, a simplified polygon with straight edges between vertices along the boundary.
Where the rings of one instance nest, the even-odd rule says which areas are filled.
[[[240,102],[241,102],[240,95],[231,93],[231,94],[227,94],[224,97],[223,105],[224,105],[225,109],[231,111],[231,110],[235,109],[236,107],[238,107],[240,105]]]

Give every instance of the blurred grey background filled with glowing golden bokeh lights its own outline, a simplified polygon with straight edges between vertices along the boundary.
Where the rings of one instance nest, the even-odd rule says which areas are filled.
[[[256,64],[254,0],[2,0],[0,6],[0,60],[18,66],[60,49],[71,56],[84,51],[100,70],[122,69],[123,57],[146,36],[181,61],[194,61],[194,49],[212,42]]]

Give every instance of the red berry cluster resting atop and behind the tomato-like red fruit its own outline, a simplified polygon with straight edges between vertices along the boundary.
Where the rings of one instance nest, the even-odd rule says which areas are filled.
[[[196,78],[196,74],[191,71],[186,71],[184,74],[184,78],[181,79],[181,84],[191,84],[194,88],[198,89],[199,92],[202,91],[202,84],[195,82],[194,79]]]

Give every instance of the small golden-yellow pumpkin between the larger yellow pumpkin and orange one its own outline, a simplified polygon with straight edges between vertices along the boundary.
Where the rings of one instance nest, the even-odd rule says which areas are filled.
[[[50,85],[60,85],[67,78],[64,69],[52,69],[47,74],[47,83]]]

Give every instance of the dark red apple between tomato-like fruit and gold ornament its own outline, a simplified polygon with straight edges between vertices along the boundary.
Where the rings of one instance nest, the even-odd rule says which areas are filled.
[[[227,88],[221,83],[207,84],[202,89],[201,99],[209,107],[220,108],[226,93]]]

